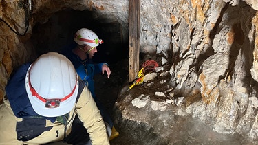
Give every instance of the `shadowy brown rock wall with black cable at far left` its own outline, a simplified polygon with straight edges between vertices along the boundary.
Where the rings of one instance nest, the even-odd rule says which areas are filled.
[[[0,100],[5,96],[5,86],[14,68],[27,62],[34,56],[34,50],[28,39],[31,35],[32,25],[25,25],[25,10],[18,1],[0,1]],[[18,34],[10,30],[12,27]],[[32,21],[30,21],[32,23]]]

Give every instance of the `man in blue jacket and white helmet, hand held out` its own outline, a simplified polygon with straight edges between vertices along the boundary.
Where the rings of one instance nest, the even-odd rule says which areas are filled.
[[[103,106],[100,103],[98,98],[96,98],[94,90],[94,75],[95,74],[104,74],[107,73],[107,78],[111,74],[111,70],[107,63],[94,63],[92,58],[97,51],[97,46],[103,43],[103,40],[99,39],[95,32],[87,28],[82,28],[78,30],[74,36],[75,43],[70,45],[62,53],[69,58],[73,63],[78,76],[86,82],[87,87],[92,93],[98,109],[103,116],[103,120],[109,126],[107,126],[107,132],[109,134],[109,139],[112,140],[114,137],[118,136],[118,132],[114,128],[114,124],[111,121],[111,117]],[[106,124],[106,125],[107,125]]]

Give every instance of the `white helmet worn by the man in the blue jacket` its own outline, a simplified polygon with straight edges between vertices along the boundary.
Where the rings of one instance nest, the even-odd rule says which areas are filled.
[[[82,28],[76,32],[74,41],[78,45],[87,44],[91,47],[97,47],[99,44],[103,43],[103,40],[98,39],[98,36],[92,30],[86,28]]]

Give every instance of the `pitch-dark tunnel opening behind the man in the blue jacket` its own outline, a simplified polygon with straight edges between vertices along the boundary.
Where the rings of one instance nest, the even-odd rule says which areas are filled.
[[[80,28],[94,31],[104,41],[97,47],[94,62],[116,63],[128,57],[128,28],[118,21],[94,19],[93,11],[72,9],[54,13],[47,22],[38,22],[32,29],[32,43],[37,54],[61,52],[74,43],[74,34]]]

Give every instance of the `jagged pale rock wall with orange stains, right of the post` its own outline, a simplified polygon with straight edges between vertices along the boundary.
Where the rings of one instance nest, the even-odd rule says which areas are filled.
[[[257,140],[256,11],[244,1],[179,7],[172,16],[178,22],[171,82],[178,89],[200,86],[202,96],[186,111],[219,133],[236,131]]]

